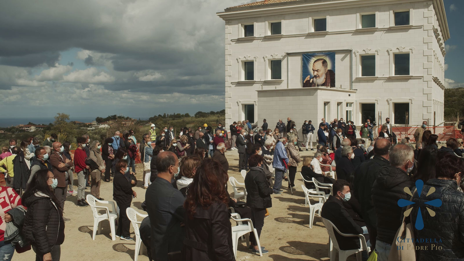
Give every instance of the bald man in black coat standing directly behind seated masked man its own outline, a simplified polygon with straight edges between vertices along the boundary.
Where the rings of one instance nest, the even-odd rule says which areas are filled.
[[[374,158],[361,163],[354,175],[354,196],[361,205],[361,215],[366,222],[369,232],[371,245],[375,247],[375,237],[377,236],[377,218],[372,203],[371,190],[374,181],[379,176],[380,169],[389,166],[390,162],[388,151],[391,143],[388,139],[380,138],[374,144]]]

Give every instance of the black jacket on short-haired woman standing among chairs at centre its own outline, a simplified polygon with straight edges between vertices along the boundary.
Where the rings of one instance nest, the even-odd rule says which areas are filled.
[[[264,176],[264,170],[251,167],[245,176],[246,206],[250,208],[266,209],[272,207],[270,184]]]

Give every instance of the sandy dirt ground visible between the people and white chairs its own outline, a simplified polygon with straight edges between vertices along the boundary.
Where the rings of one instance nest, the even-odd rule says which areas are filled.
[[[313,156],[314,151],[303,151],[300,155]],[[238,172],[238,153],[236,150],[227,151],[229,161],[229,176],[237,178],[243,183],[243,177]],[[146,214],[141,204],[145,199],[145,189],[142,188],[142,164],[138,164],[135,187],[137,197],[132,201],[132,208]],[[301,170],[301,163],[297,169]],[[77,180],[74,182],[77,184]],[[263,257],[251,254],[246,248],[245,241],[238,242],[237,261],[306,261],[329,260],[329,235],[320,218],[315,217],[313,228],[309,228],[309,207],[304,206],[304,195],[301,188],[303,180],[296,173],[293,195],[287,190],[287,182],[283,182],[284,192],[281,195],[272,195],[272,208],[270,217],[264,219],[264,228],[261,233],[261,246],[269,250]],[[232,187],[229,192],[233,196]],[[90,193],[90,188],[85,190]],[[113,184],[102,182],[100,196],[105,200],[113,200]],[[103,221],[102,233],[92,240],[93,217],[90,207],[79,207],[76,196],[68,196],[64,204],[64,216],[71,218],[65,224],[65,240],[61,245],[61,260],[98,260],[98,261],[130,261],[134,260],[135,241],[123,241],[116,238],[111,241],[110,225]],[[232,225],[235,225],[233,223]],[[130,228],[133,234],[132,226]],[[13,261],[34,260],[35,253],[30,250],[26,253],[13,255]],[[139,255],[139,261],[148,261],[146,254]],[[355,260],[351,256],[348,260]]]

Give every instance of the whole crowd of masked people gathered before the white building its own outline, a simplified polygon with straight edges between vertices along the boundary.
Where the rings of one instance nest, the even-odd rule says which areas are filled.
[[[230,138],[221,123],[214,129],[207,124],[196,130],[183,128],[179,135],[172,126],[163,127],[157,135],[152,124],[149,133],[142,135],[139,147],[132,130],[116,131],[103,142],[90,141],[86,134],[77,137],[73,157],[70,143],[57,141],[56,134],[41,146],[35,137],[21,141],[19,146],[12,139],[0,154],[0,171],[5,173],[6,184],[0,187],[0,198],[8,202],[0,213],[0,239],[5,224],[22,213],[21,236],[32,246],[36,260],[59,260],[64,224],[70,221],[63,216],[66,197],[76,195],[77,205],[87,207],[85,189],[90,186],[90,194],[103,200],[103,179],[112,181],[113,200],[119,209],[116,237],[133,240],[125,210],[137,196],[133,190],[137,184],[135,159],[140,155],[142,188],[146,189],[142,206],[148,213],[141,224],[141,237],[153,260],[235,260],[231,212],[251,219],[257,230],[257,238],[250,236],[250,251],[269,253],[263,246],[258,248],[258,239],[272,207],[271,195],[283,193],[283,180],[292,191],[297,188],[295,177],[300,163],[306,188],[315,189],[313,178],[332,187],[321,216],[342,233],[365,235],[377,260],[388,260],[396,240],[403,215],[399,199],[420,202],[440,198],[441,208],[430,207],[437,214],[435,219],[421,209],[427,229],[415,229],[415,236],[442,237],[446,256],[464,257],[464,241],[460,239],[460,216],[464,215],[462,139],[450,138],[438,149],[438,136],[427,130],[424,122],[414,134],[414,148],[407,138],[397,144],[388,118],[381,128],[383,135],[376,138],[375,125],[367,120],[357,135],[352,121],[334,119],[327,123],[322,118],[316,131],[308,120],[303,123],[300,141],[290,117],[287,124],[279,120],[274,131],[265,119],[261,127],[254,128],[249,121],[233,122]],[[314,150],[314,131],[316,152],[313,157],[302,157],[302,147]],[[225,153],[229,139],[230,150],[238,150],[238,170],[247,171],[246,202],[232,198],[227,190],[229,162]],[[409,198],[404,188],[414,191],[417,180],[425,183],[424,189]],[[436,189],[433,196],[427,194],[431,187]],[[413,212],[412,220],[417,215]],[[445,228],[439,228],[437,222],[446,222]],[[357,238],[335,235],[342,250],[360,248]],[[6,237],[2,239],[0,258],[11,260],[13,245]],[[17,250],[23,247],[28,246],[16,244]],[[416,255],[419,260],[436,260],[441,253],[419,251]],[[367,256],[363,253],[364,260]]]

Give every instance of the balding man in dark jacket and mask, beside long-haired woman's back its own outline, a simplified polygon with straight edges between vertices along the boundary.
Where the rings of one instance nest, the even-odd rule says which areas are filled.
[[[145,193],[147,213],[151,224],[152,259],[168,261],[168,253],[180,251],[183,247],[185,229],[185,201],[182,193],[172,185],[179,175],[177,156],[171,151],[163,151],[156,158],[158,177]]]

